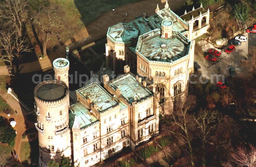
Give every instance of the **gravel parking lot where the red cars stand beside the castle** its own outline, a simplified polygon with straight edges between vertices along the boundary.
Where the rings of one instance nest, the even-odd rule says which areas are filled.
[[[244,36],[248,37],[248,34],[243,34]],[[229,68],[234,67],[236,69],[236,75],[241,75],[244,71],[244,69],[241,67],[241,62],[248,57],[248,43],[250,45],[255,46],[256,44],[256,34],[250,34],[249,39],[247,42],[241,42],[240,46],[235,46],[236,49],[227,54],[224,52],[226,48],[229,46],[226,45],[221,50],[220,57],[217,57],[216,62],[212,62],[210,60],[206,60],[205,56],[208,54],[207,52],[199,51],[199,48],[195,48],[195,57],[194,60],[201,66],[200,72],[204,77],[207,77],[210,79],[210,76],[212,74],[223,74],[225,77],[228,77],[229,74]],[[196,45],[195,47],[200,47]],[[210,48],[209,48],[210,49]],[[220,67],[220,71],[219,71]]]

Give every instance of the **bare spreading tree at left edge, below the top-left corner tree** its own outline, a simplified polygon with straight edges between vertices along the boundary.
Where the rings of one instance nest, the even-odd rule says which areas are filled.
[[[20,59],[21,52],[30,52],[26,39],[19,37],[15,32],[0,31],[0,61],[13,66],[14,59]]]

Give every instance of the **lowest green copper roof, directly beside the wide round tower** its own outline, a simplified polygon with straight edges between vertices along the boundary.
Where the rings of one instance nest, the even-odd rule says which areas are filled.
[[[98,122],[99,120],[90,113],[90,110],[86,108],[81,103],[76,103],[70,106],[69,113],[69,127],[72,128],[75,120],[75,116],[77,117],[77,121],[79,122],[81,129],[90,126],[93,123]]]

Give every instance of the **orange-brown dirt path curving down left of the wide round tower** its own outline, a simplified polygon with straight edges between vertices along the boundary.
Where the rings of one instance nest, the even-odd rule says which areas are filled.
[[[17,131],[17,136],[16,136],[16,142],[15,142],[15,146],[14,146],[14,150],[16,151],[17,155],[18,155],[18,159],[20,157],[20,145],[21,142],[25,142],[28,141],[27,138],[22,139],[22,134],[23,132],[27,129],[25,121],[28,125],[28,128],[33,127],[33,123],[27,120],[26,117],[26,113],[27,111],[25,110],[25,108],[23,108],[19,102],[17,102],[11,95],[7,94],[6,92],[4,92],[3,90],[0,90],[0,96],[7,102],[7,104],[9,106],[11,106],[11,108],[15,111],[17,111],[17,114],[10,115],[10,117],[7,117],[6,114],[4,113],[0,113],[0,116],[3,116],[7,119],[13,118],[17,124],[16,127],[14,127],[14,130]],[[25,118],[25,119],[24,119]]]

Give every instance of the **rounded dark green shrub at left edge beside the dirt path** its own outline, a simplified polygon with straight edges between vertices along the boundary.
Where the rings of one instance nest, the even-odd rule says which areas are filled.
[[[10,146],[14,146],[16,133],[12,127],[0,127],[0,141],[2,143],[8,143]]]

